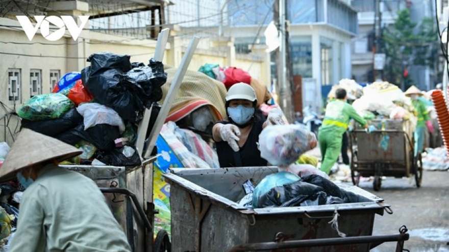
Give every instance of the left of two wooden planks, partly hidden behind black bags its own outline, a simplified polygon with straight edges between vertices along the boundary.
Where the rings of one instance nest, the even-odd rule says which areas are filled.
[[[166,28],[159,33],[158,41],[156,43],[156,51],[154,55],[154,59],[156,61],[161,61],[164,59],[165,46],[168,41],[168,35],[170,29]],[[149,118],[151,117],[151,111],[153,109],[153,105],[149,109],[145,109],[145,113],[143,114],[143,119],[139,123],[139,128],[137,132],[137,140],[136,140],[136,148],[139,152],[139,155],[142,156],[144,153],[143,146],[145,144],[145,136],[146,131],[148,130]]]

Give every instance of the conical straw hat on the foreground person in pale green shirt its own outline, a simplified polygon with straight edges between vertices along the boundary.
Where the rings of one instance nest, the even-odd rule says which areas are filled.
[[[47,160],[66,160],[82,151],[51,136],[23,128],[0,167],[0,180],[15,177],[15,173],[29,165]]]

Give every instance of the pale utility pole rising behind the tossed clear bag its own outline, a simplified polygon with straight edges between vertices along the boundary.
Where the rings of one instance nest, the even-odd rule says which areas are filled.
[[[290,63],[287,62],[287,29],[286,29],[286,0],[277,0],[273,3],[274,18],[273,20],[279,20],[279,39],[281,45],[277,50],[277,72],[278,72],[278,87],[279,87],[279,105],[284,112],[288,122],[293,122],[292,102],[291,102],[291,78],[287,77],[287,68]],[[279,18],[279,19],[278,19]],[[288,71],[290,73],[290,71]],[[289,75],[290,76],[290,75]]]

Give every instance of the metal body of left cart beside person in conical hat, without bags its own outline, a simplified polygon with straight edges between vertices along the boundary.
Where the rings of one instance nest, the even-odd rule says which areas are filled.
[[[157,156],[139,166],[60,165],[95,181],[105,194],[133,252],[170,251],[168,234],[161,230],[154,237],[153,163]]]

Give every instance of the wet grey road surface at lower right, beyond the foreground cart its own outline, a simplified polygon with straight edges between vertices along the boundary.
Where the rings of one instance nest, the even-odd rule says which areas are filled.
[[[410,179],[387,178],[380,191],[372,182],[360,187],[378,195],[391,205],[393,214],[377,215],[373,235],[398,234],[406,225],[410,240],[405,248],[412,252],[449,252],[449,172],[424,171],[422,186]],[[395,251],[394,242],[384,243],[371,252]]]

